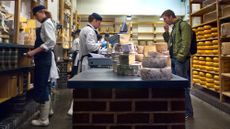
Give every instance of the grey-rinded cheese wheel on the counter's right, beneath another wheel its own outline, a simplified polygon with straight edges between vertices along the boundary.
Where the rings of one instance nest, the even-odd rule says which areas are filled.
[[[170,80],[172,78],[172,70],[166,68],[142,68],[140,70],[143,80]]]

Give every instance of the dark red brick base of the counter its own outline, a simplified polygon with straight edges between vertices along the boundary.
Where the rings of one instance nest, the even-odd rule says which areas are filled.
[[[75,89],[73,129],[185,129],[184,89]]]

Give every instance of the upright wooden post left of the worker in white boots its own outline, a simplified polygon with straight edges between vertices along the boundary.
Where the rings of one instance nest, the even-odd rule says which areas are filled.
[[[15,8],[14,8],[14,43],[18,43],[18,40],[19,40],[20,12],[21,12],[21,0],[15,0]]]

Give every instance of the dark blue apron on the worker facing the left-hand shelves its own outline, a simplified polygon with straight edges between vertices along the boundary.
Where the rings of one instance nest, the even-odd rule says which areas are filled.
[[[40,47],[44,42],[41,39],[41,28],[36,29],[35,48]],[[34,89],[33,98],[38,103],[49,100],[50,84],[48,82],[51,68],[51,51],[41,52],[34,56]]]

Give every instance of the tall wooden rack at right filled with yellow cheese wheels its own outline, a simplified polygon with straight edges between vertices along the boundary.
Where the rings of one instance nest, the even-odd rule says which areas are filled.
[[[219,93],[220,101],[230,93],[230,4],[226,1],[190,1],[191,25],[197,34],[198,48],[191,61],[192,83]],[[194,8],[194,4],[198,4],[200,9]]]

